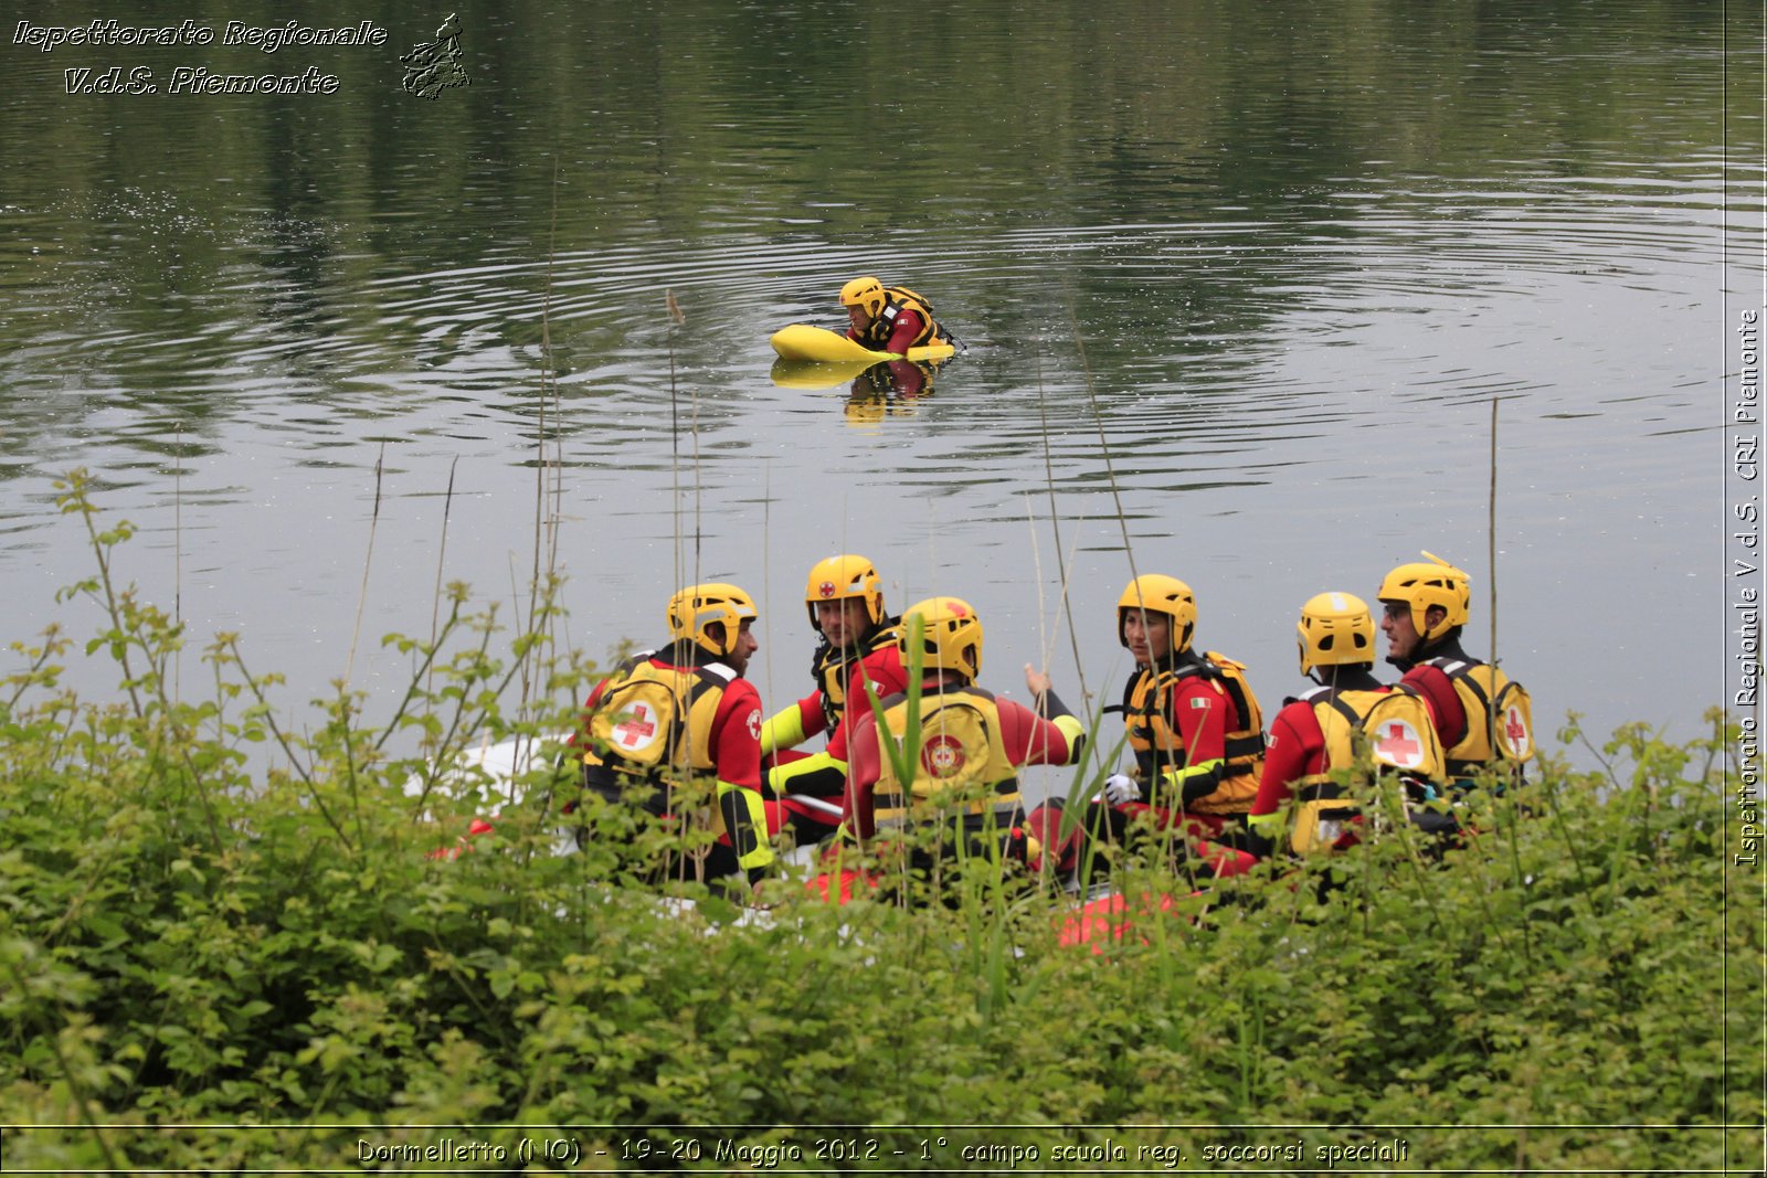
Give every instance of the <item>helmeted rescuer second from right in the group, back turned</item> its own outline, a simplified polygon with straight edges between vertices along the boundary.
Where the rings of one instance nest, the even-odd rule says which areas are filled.
[[[1248,818],[1249,850],[1258,857],[1278,850],[1306,855],[1359,839],[1359,804],[1331,775],[1355,765],[1357,733],[1373,768],[1407,781],[1408,802],[1428,800],[1442,779],[1442,745],[1424,701],[1375,678],[1375,622],[1368,602],[1354,593],[1318,593],[1301,608],[1295,629],[1301,673],[1315,687],[1285,701],[1270,721],[1258,797]],[[1452,819],[1431,812],[1414,821],[1452,828]]]

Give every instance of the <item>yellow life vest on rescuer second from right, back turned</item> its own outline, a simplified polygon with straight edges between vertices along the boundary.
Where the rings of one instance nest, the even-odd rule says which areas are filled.
[[[1410,691],[1341,691],[1336,696],[1320,687],[1302,701],[1313,705],[1313,717],[1325,736],[1325,770],[1295,782],[1295,816],[1288,844],[1299,855],[1329,850],[1343,834],[1343,825],[1361,812],[1361,802],[1329,770],[1354,768],[1357,745],[1362,761],[1380,774],[1403,774],[1419,781],[1444,775],[1442,742],[1430,722],[1430,708]]]

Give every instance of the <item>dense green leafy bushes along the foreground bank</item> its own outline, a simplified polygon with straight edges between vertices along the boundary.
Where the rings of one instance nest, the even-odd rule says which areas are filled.
[[[1179,902],[1117,940],[1062,945],[1071,901],[984,872],[922,908],[829,908],[788,878],[770,922],[739,924],[610,883],[611,827],[555,855],[544,754],[495,834],[429,855],[498,807],[436,766],[571,728],[592,668],[542,629],[497,653],[456,588],[435,643],[394,639],[413,685],[378,724],[341,687],[279,721],[219,636],[191,703],[178,627],[113,586],[127,528],[101,532],[78,479],[67,509],[99,565],[74,590],[106,618],[90,652],[122,683],[62,687],[49,632],[0,685],[0,1121],[34,1127],[7,1167],[337,1167],[436,1125],[507,1152],[555,1127],[606,1150],[585,1166],[765,1167],[790,1141],[797,1167],[961,1167],[940,1125],[1177,1141],[1191,1167],[1205,1143],[1380,1134],[1431,1167],[1758,1162],[1763,894],[1726,872],[1721,726],[1622,729],[1599,774],[1550,761],[1440,857],[1384,837],[1194,897],[1126,865],[1127,897]],[[518,675],[562,706],[507,719]]]

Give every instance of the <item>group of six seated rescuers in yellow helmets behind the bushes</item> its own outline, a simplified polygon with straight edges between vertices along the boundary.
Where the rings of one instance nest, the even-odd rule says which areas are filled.
[[[1164,574],[1131,579],[1117,641],[1134,657],[1120,703],[1133,763],[1066,821],[1060,800],[1027,814],[1018,775],[1078,765],[1087,728],[1028,664],[1034,706],[977,683],[982,622],[968,602],[929,597],[892,616],[869,560],[818,562],[804,588],[815,691],[765,719],[744,678],[758,648],[755,599],[694,585],[668,602],[670,643],[627,659],[588,696],[576,736],[583,800],[636,802],[664,821],[691,809],[703,846],[673,874],[724,885],[758,883],[786,830],[829,848],[937,830],[935,858],[1018,860],[1076,883],[1113,862],[1108,848],[1138,842],[1193,874],[1237,874],[1270,855],[1354,844],[1366,816],[1348,775],[1332,772],[1354,766],[1399,782],[1408,821],[1451,834],[1456,798],[1520,779],[1534,754],[1532,710],[1520,683],[1461,646],[1467,574],[1424,556],[1392,569],[1376,593],[1399,682],[1375,678],[1368,604],[1320,593],[1297,625],[1313,685],[1285,701],[1269,735],[1244,666],[1198,648],[1191,588]],[[800,747],[816,736],[827,738],[820,751]],[[682,795],[682,781],[696,791]],[[915,846],[926,865],[926,839]]]

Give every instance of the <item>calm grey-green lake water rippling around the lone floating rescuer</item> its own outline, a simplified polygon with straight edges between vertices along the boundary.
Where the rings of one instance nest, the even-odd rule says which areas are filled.
[[[7,639],[97,625],[55,604],[85,466],[141,530],[122,574],[290,706],[346,664],[391,696],[378,638],[428,632],[438,562],[525,599],[544,477],[571,641],[656,641],[679,581],[733,579],[770,706],[834,551],[892,609],[972,600],[1016,694],[1048,661],[1115,701],[1133,553],[1274,708],[1301,602],[1430,549],[1475,578],[1477,652],[1497,581],[1548,749],[1571,708],[1691,735],[1723,696],[1758,7],[465,4],[472,85],[433,101],[398,57],[447,7],[148,7],[216,39],[5,30]],[[387,37],[223,44],[290,19]],[[111,65],[157,90],[69,94]],[[309,67],[334,92],[171,92]],[[767,336],[836,325],[855,274],[968,343],[922,396],[776,381]]]

